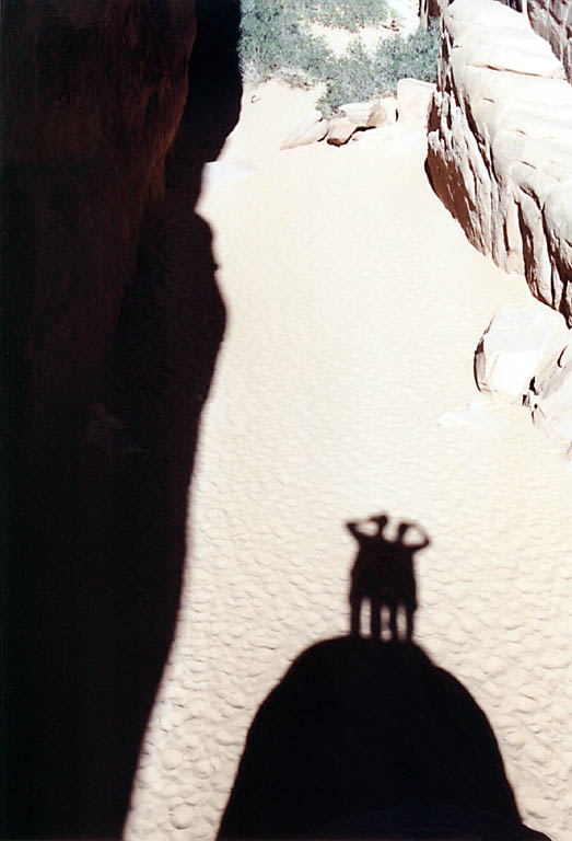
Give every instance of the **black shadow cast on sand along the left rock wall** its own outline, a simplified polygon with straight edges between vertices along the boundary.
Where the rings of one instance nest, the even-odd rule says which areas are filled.
[[[240,7],[197,2],[187,113],[87,415],[19,453],[5,837],[119,838],[173,640],[200,415],[224,334],[201,168],[237,122]],[[214,48],[217,45],[217,48]],[[214,116],[215,115],[215,118]],[[15,460],[15,459],[14,459]]]

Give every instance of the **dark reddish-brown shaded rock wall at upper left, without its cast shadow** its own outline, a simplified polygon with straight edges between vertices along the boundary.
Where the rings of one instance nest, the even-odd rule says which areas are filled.
[[[4,3],[5,277],[36,426],[90,400],[187,94],[194,1]]]

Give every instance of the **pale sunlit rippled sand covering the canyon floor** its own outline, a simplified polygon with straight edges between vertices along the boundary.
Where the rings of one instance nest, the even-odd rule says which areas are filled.
[[[247,90],[198,208],[229,325],[127,838],[214,837],[259,704],[304,648],[348,631],[343,522],[386,510],[432,540],[418,644],[487,714],[524,820],[565,841],[572,477],[472,378],[491,315],[528,292],[433,195],[420,127],[280,152],[312,101]]]

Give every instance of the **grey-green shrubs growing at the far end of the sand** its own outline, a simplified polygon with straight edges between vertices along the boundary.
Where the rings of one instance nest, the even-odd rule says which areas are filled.
[[[318,106],[331,114],[345,102],[365,101],[395,91],[397,81],[413,77],[434,81],[439,37],[435,28],[418,30],[408,37],[394,35],[374,53],[354,44],[337,58],[308,23],[360,26],[386,22],[385,0],[241,0],[240,57],[245,82],[272,77],[292,84],[323,82],[326,92]]]

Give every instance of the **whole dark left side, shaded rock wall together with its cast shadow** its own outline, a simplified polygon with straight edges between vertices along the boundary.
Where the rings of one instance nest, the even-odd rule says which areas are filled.
[[[3,838],[121,834],[224,331],[195,203],[237,31],[233,0],[2,5]]]

